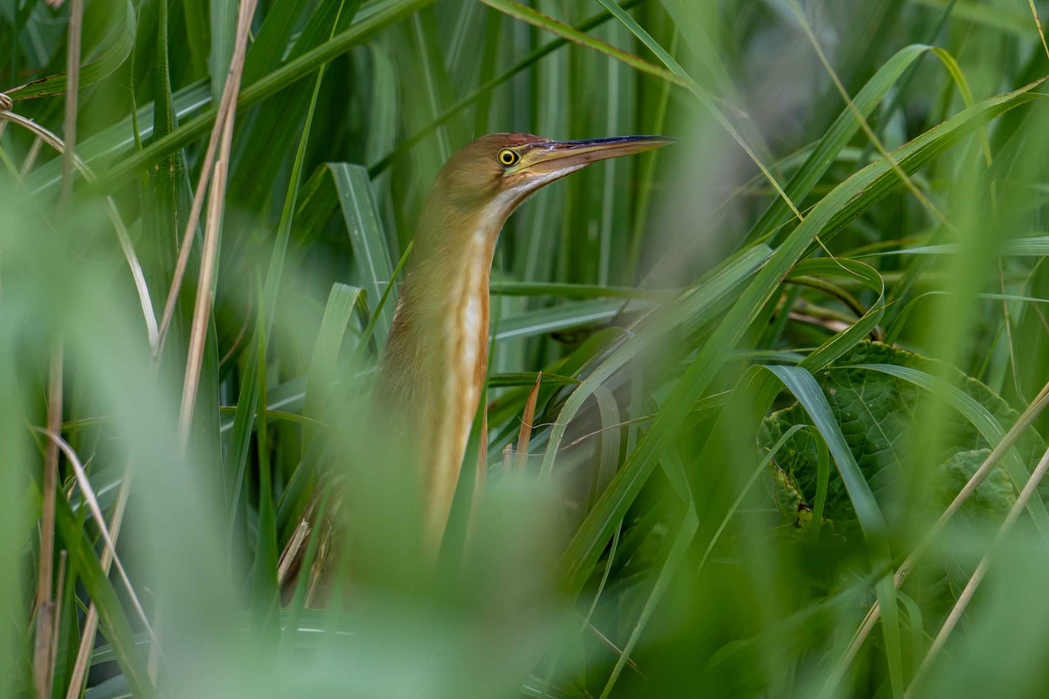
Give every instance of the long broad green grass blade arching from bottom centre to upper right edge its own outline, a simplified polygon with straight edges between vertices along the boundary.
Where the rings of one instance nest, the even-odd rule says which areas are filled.
[[[1033,100],[1035,95],[1031,94],[1031,91],[1041,83],[1042,81],[1032,83],[1015,92],[991,97],[970,107],[938,128],[897,149],[895,153],[897,163],[908,173],[915,172],[950,145],[998,114]],[[565,584],[570,591],[577,592],[579,590],[594,562],[604,548],[604,543],[612,536],[615,523],[623,517],[626,508],[637,497],[641,486],[658,463],[663,450],[666,449],[684,423],[688,410],[709,388],[713,378],[730,357],[736,343],[778,288],[783,278],[812,245],[816,235],[821,234],[826,241],[828,230],[840,231],[849,221],[887,195],[898,184],[899,179],[896,173],[883,160],[874,162],[854,174],[825,196],[812,209],[805,221],[798,224],[784,243],[776,248],[768,262],[753,275],[753,281],[718,325],[713,334],[707,340],[677,383],[672,393],[663,403],[651,429],[639,441],[638,449],[628,457],[624,466],[617,473],[612,485],[602,496],[601,501],[576,532],[564,554]],[[840,352],[844,352],[847,349],[848,347],[835,348],[833,352],[825,353],[820,358],[830,357],[828,362],[832,361],[835,353],[840,356]],[[815,370],[817,367],[810,365],[808,368]],[[598,375],[597,372],[595,372],[596,375]],[[583,386],[577,391],[580,391]],[[771,403],[772,397],[769,398],[769,403]],[[574,408],[578,410],[578,407],[574,406]],[[562,415],[568,412],[568,409],[569,403],[565,405],[565,411],[562,411]],[[571,416],[572,413],[569,413],[569,419]],[[563,429],[563,421],[559,417],[547,455],[543,458],[543,469],[548,473],[553,467]]]

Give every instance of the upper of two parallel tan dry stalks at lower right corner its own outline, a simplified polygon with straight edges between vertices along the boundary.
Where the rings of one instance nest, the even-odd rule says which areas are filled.
[[[955,514],[961,509],[965,501],[968,500],[973,493],[976,493],[977,487],[979,487],[980,483],[982,483],[984,478],[987,477],[987,474],[989,474],[991,469],[998,465],[998,462],[1002,460],[1010,449],[1012,449],[1024,431],[1034,422],[1035,418],[1042,414],[1042,411],[1044,411],[1047,406],[1049,406],[1049,384],[1046,384],[1042,388],[1039,395],[1035,396],[1034,400],[1031,401],[1026,410],[1024,410],[1023,414],[1021,414],[1021,416],[1016,419],[1016,422],[1005,434],[1005,437],[1002,438],[1002,441],[1000,441],[991,453],[987,455],[984,462],[980,464],[977,472],[972,474],[972,478],[970,478],[968,482],[965,483],[965,486],[962,487],[961,492],[955,496],[955,499],[947,506],[947,509],[943,511],[943,515],[941,515],[940,519],[936,521],[936,524],[933,525],[933,528],[929,529],[924,539],[922,539],[918,546],[915,547],[915,550],[911,552],[906,560],[900,564],[896,574],[893,575],[893,584],[896,585],[897,588],[903,585],[903,581],[906,580],[906,576],[918,564],[922,554],[928,550],[928,547],[933,544],[937,537],[939,537],[940,532],[943,531],[944,527],[947,526],[950,518],[952,518]],[[856,629],[856,633],[849,642],[849,648],[845,649],[844,654],[831,671],[827,682],[823,684],[823,690],[820,693],[821,697],[832,695],[834,687],[836,687],[838,682],[841,681],[841,678],[844,677],[849,665],[852,664],[852,661],[859,653],[859,649],[863,646],[863,641],[866,640],[871,631],[874,630],[880,615],[881,610],[878,605],[878,600],[876,599],[871,606],[870,611],[866,613],[866,616],[864,616],[863,620],[860,622],[859,628]]]

